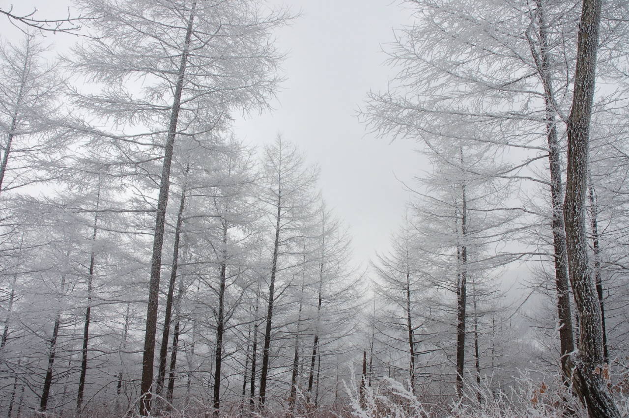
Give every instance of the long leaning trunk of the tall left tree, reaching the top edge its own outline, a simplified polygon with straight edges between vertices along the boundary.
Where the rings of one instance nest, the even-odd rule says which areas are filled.
[[[142,358],[142,385],[140,388],[140,415],[150,414],[151,409],[151,387],[153,385],[153,362],[155,361],[155,331],[157,327],[157,303],[159,301],[159,280],[162,269],[162,246],[164,245],[164,223],[166,219],[166,205],[168,203],[168,193],[170,188],[170,163],[172,162],[172,151],[177,135],[177,122],[179,121],[179,108],[181,106],[181,93],[184,88],[184,75],[189,55],[190,39],[192,36],[192,21],[196,1],[192,3],[192,11],[188,19],[186,30],[186,40],[184,50],[181,54],[179,73],[175,85],[175,94],[172,103],[172,113],[166,146],[164,151],[164,166],[162,167],[162,179],[160,182],[159,197],[157,199],[157,214],[155,217],[155,239],[153,241],[153,254],[151,260],[150,289],[148,291],[147,307],[147,327],[144,337],[144,355]]]

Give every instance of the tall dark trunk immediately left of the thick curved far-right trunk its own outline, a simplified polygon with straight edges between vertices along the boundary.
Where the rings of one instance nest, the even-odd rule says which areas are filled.
[[[542,76],[545,97],[545,121],[548,142],[548,163],[550,168],[550,197],[552,200],[552,231],[555,255],[555,289],[557,290],[557,317],[559,319],[559,344],[561,364],[565,368],[567,357],[574,351],[574,334],[572,333],[572,313],[570,302],[570,284],[568,280],[567,254],[565,250],[564,227],[564,195],[561,179],[561,146],[557,136],[557,110],[554,105],[554,89],[552,70],[548,56],[548,28],[545,9],[542,1],[537,0],[538,23],[540,26],[540,50],[535,52],[533,42],[531,48],[536,57],[538,71]],[[565,381],[569,384],[567,381]]]

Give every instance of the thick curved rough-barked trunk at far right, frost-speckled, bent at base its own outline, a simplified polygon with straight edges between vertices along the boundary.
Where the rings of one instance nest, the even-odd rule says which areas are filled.
[[[572,378],[579,399],[591,418],[620,418],[602,375],[603,329],[601,307],[587,261],[585,200],[589,125],[594,99],[594,73],[601,0],[583,0],[572,109],[567,121],[568,167],[564,219],[569,277],[579,311],[579,351],[571,356],[564,372]]]

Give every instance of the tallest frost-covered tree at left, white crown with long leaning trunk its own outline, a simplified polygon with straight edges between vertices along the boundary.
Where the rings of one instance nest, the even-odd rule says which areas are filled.
[[[74,48],[70,68],[101,84],[74,95],[121,162],[161,159],[150,273],[140,412],[150,412],[159,280],[175,139],[225,126],[235,108],[265,107],[279,77],[272,30],[287,14],[254,0],[77,3],[92,36]],[[142,87],[137,88],[138,80]],[[100,126],[99,126],[100,124]]]

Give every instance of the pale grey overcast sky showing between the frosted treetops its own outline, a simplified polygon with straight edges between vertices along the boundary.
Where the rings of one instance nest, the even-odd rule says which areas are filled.
[[[355,262],[365,263],[374,251],[385,251],[389,234],[398,228],[408,193],[396,180],[412,182],[425,169],[413,152],[415,143],[389,144],[365,131],[356,112],[367,92],[383,91],[396,74],[384,65],[381,52],[393,40],[392,28],[410,22],[409,11],[392,0],[272,0],[301,12],[291,26],[277,32],[286,82],[274,111],[238,118],[236,133],[248,143],[263,145],[277,132],[297,143],[308,162],[321,168],[320,185],[329,206],[351,227]],[[38,9],[38,18],[64,18],[69,0],[0,0],[15,10]],[[0,33],[16,31],[0,19]],[[57,50],[74,36],[49,35]]]

